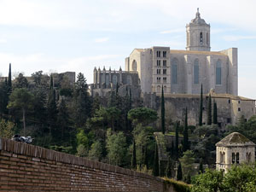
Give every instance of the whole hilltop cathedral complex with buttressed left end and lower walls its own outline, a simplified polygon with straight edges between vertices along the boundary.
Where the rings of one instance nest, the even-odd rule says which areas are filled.
[[[125,58],[125,71],[94,69],[94,83],[90,94],[108,97],[119,87],[125,96],[142,98],[143,106],[160,113],[161,87],[165,92],[166,122],[183,120],[188,109],[189,125],[197,125],[201,85],[203,87],[203,124],[207,124],[209,93],[218,106],[218,125],[236,125],[241,116],[249,119],[256,114],[255,100],[238,96],[237,48],[211,51],[210,25],[201,18],[199,9],[195,19],[186,26],[185,50],[154,46],[133,49]]]

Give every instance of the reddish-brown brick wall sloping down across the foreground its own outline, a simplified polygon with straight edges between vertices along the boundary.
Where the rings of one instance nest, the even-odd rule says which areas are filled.
[[[0,191],[174,190],[159,177],[0,138]]]

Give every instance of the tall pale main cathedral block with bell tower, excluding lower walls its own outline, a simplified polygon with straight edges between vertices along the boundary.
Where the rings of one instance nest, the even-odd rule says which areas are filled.
[[[195,19],[186,26],[186,50],[170,47],[134,49],[125,59],[125,71],[137,72],[143,93],[200,94],[211,89],[216,93],[237,96],[237,49],[210,51],[210,25]]]

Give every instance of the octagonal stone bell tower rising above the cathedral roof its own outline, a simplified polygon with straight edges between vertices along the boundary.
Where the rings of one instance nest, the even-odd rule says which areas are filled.
[[[195,14],[195,19],[186,26],[187,50],[210,51],[210,24],[201,19],[199,9]]]

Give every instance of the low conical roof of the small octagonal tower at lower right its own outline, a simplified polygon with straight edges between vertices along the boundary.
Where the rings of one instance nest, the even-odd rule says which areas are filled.
[[[232,132],[227,137],[224,137],[222,140],[220,140],[218,143],[216,143],[217,147],[231,147],[231,146],[239,146],[239,147],[245,147],[245,146],[255,146],[255,144],[247,139],[247,137],[244,137],[239,132]]]

